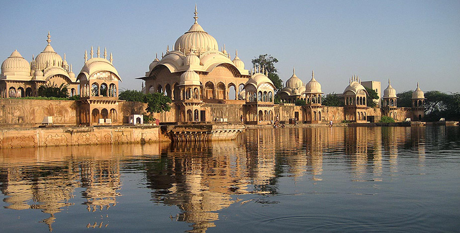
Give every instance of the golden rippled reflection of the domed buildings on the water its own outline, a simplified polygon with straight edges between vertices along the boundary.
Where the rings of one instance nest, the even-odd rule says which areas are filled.
[[[219,212],[250,201],[246,195],[286,192],[283,177],[295,185],[317,184],[328,181],[324,173],[345,168],[349,181],[383,181],[398,173],[398,153],[407,150],[424,168],[426,134],[425,127],[270,128],[247,130],[225,142],[3,149],[0,190],[6,209],[39,209],[47,218],[37,222],[43,219],[52,231],[56,221],[70,221],[56,216],[64,208],[71,212],[83,204],[103,217],[116,208],[118,197],[132,194],[123,192],[123,174],[140,174],[146,182],[138,185],[150,190],[150,200],[143,201],[176,206],[180,211],[172,220],[190,223],[187,232],[206,232],[216,227]],[[438,139],[439,148],[457,140],[443,137],[442,130],[433,134],[429,143]],[[107,227],[84,217],[77,221],[82,227]]]

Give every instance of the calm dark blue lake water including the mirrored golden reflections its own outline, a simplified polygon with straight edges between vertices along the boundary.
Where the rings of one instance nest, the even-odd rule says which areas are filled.
[[[0,150],[1,232],[459,232],[460,130]]]

